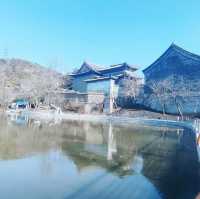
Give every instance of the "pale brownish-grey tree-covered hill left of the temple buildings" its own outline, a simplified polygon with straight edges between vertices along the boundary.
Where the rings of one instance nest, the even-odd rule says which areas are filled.
[[[62,88],[64,76],[22,59],[0,59],[0,104],[16,98],[42,98]]]

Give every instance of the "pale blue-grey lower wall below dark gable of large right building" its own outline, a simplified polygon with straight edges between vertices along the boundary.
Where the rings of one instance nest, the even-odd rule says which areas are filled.
[[[171,75],[154,82],[146,81],[142,103],[155,111],[171,114],[200,114],[200,79],[190,75]],[[155,88],[156,87],[156,88]]]

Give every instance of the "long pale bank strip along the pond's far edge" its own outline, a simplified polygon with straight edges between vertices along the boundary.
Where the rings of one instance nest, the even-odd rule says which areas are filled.
[[[25,111],[22,114],[28,115],[32,119],[38,120],[71,120],[71,121],[88,121],[88,122],[100,122],[117,125],[131,125],[131,124],[146,124],[155,126],[183,127],[189,128],[196,132],[193,123],[190,121],[177,121],[171,119],[157,119],[157,118],[145,118],[145,117],[130,117],[125,115],[106,115],[106,114],[79,114],[79,113],[66,113],[57,114],[50,111]]]

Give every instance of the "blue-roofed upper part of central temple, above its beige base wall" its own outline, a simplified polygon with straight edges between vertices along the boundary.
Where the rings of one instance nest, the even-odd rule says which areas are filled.
[[[133,75],[137,68],[127,63],[101,67],[84,62],[79,70],[71,74],[72,89],[81,93],[103,92],[109,93],[112,86],[117,93],[118,80],[127,73]]]

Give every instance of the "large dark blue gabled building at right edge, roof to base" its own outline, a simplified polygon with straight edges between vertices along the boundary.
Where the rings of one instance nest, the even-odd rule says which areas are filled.
[[[146,87],[152,90],[145,106],[174,114],[200,113],[199,55],[172,44],[143,73]]]

